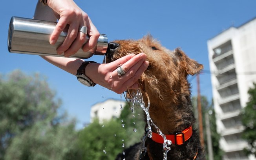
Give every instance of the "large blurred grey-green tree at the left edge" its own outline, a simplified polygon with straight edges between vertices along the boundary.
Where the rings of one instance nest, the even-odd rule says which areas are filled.
[[[39,74],[0,77],[0,160],[58,160],[77,151],[75,121],[58,115],[61,100]],[[78,155],[78,154],[76,154]]]

